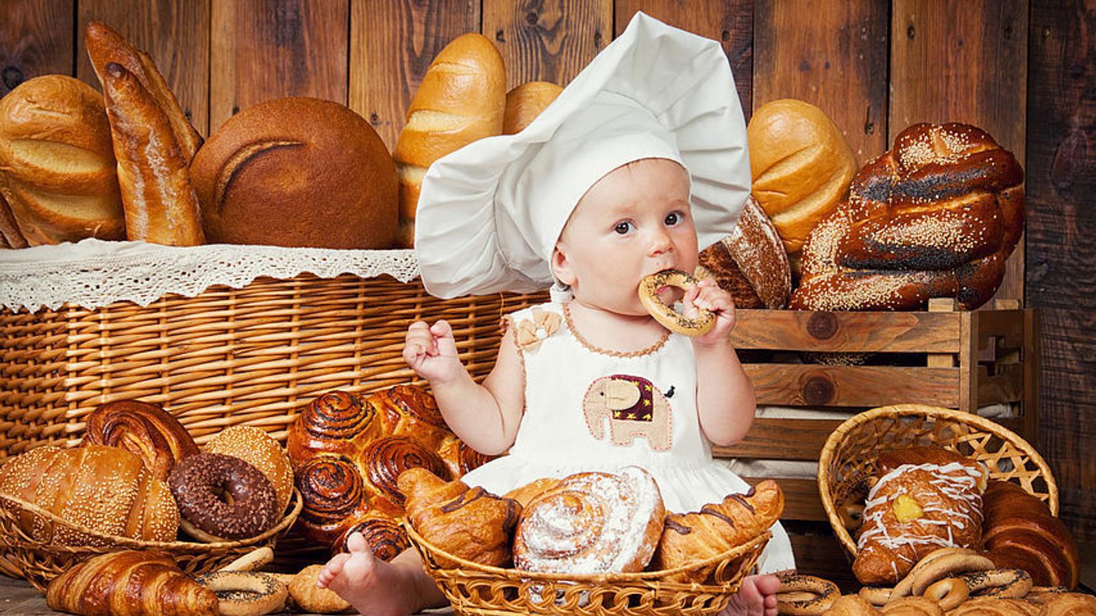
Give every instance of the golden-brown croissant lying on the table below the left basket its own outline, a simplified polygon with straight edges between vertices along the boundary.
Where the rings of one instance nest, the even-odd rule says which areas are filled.
[[[139,550],[72,567],[49,582],[46,605],[84,616],[219,614],[217,595],[183,573],[170,555]]]

